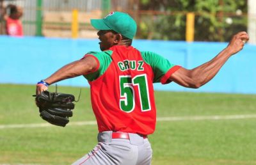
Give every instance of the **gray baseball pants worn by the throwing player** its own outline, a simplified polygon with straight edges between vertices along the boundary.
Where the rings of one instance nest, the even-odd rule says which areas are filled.
[[[72,165],[149,165],[152,148],[147,138],[129,133],[129,139],[113,139],[112,131],[98,134],[98,145]]]

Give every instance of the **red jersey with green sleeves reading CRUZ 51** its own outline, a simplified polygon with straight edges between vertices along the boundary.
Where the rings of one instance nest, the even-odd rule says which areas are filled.
[[[124,45],[86,54],[93,56],[99,64],[95,72],[85,76],[90,83],[92,108],[99,132],[113,130],[143,135],[154,132],[156,106],[153,83],[168,83],[170,74],[179,67],[160,56],[152,56],[150,52],[143,54]],[[159,64],[159,59],[164,67]]]

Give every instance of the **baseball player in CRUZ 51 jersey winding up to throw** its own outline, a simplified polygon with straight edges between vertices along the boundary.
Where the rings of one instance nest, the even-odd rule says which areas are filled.
[[[186,88],[199,88],[249,40],[246,32],[239,32],[211,61],[188,70],[155,52],[132,47],[137,26],[127,13],[111,12],[104,19],[91,20],[91,24],[99,30],[102,52],[88,52],[36,85],[39,95],[50,84],[79,75],[90,84],[99,143],[74,164],[151,164],[147,136],[156,129],[153,83],[173,81]]]

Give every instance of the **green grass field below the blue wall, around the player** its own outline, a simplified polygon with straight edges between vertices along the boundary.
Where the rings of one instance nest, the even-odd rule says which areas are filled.
[[[50,91],[54,91],[54,86]],[[79,88],[58,88],[79,95]],[[96,125],[5,128],[46,123],[31,95],[35,86],[0,84],[0,164],[71,164],[97,144]],[[157,117],[256,114],[256,95],[156,91]],[[153,165],[256,164],[255,118],[158,121],[149,136]],[[95,120],[83,88],[72,122]],[[4,126],[4,127],[1,127]]]

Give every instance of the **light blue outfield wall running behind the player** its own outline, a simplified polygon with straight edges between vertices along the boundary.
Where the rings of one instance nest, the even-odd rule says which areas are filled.
[[[0,83],[36,84],[63,65],[100,51],[99,40],[0,36]],[[185,68],[194,68],[212,59],[227,43],[134,40],[141,51],[154,51]],[[212,81],[194,90],[175,83],[155,85],[156,90],[256,93],[256,46],[246,44],[243,51],[230,58]],[[83,77],[58,83],[88,86]]]

